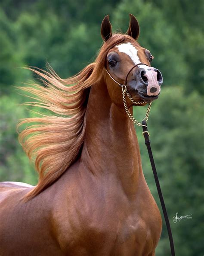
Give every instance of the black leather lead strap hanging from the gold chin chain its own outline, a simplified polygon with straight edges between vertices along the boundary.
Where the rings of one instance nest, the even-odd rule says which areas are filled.
[[[168,235],[169,235],[169,242],[170,242],[170,248],[171,248],[171,255],[175,256],[175,250],[174,250],[174,245],[173,245],[173,237],[172,237],[172,233],[171,233],[171,227],[170,227],[170,223],[169,223],[167,209],[166,209],[166,206],[165,206],[165,203],[164,203],[164,198],[163,198],[163,195],[162,195],[162,192],[161,192],[161,187],[160,187],[160,184],[159,184],[159,179],[158,179],[158,175],[157,175],[155,161],[154,161],[154,158],[153,158],[153,154],[151,152],[151,146],[150,146],[151,141],[149,140],[149,133],[148,133],[146,121],[142,121],[142,125],[145,125],[145,126],[142,126],[142,129],[143,129],[143,133],[142,134],[143,134],[143,136],[145,138],[145,144],[147,146],[147,150],[148,150],[148,154],[149,154],[149,159],[150,159],[150,162],[151,162],[151,168],[153,170],[153,174],[154,174],[155,183],[156,183],[156,186],[157,186],[158,195],[159,195],[159,199],[160,199],[160,202],[161,202],[161,207],[162,207],[163,214],[164,214],[164,219],[165,219],[166,226],[167,226],[167,231],[168,231]]]

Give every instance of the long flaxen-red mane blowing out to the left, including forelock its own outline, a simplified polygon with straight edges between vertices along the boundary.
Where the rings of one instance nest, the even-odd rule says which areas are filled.
[[[45,86],[21,87],[35,99],[27,104],[48,109],[53,115],[26,118],[18,125],[27,124],[19,134],[19,141],[39,173],[37,186],[25,196],[26,201],[55,182],[79,157],[86,130],[90,86],[102,78],[109,49],[125,40],[136,43],[128,35],[114,34],[103,44],[96,62],[68,79],[61,79],[52,69],[47,72],[29,68],[41,77]]]

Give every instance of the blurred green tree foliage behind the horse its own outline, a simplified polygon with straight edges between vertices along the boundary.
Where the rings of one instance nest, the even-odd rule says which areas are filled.
[[[148,121],[176,255],[204,254],[202,170],[204,36],[201,0],[1,0],[0,2],[0,181],[36,184],[37,175],[18,143],[16,124],[35,115],[20,103],[15,86],[34,79],[24,66],[45,68],[46,61],[63,78],[94,61],[102,44],[100,24],[110,14],[116,31],[126,32],[129,13],[139,20],[139,43],[155,56],[163,74],[161,96]],[[142,118],[144,109],[135,108]],[[136,127],[145,178],[158,195],[141,129]],[[179,216],[192,219],[173,223]],[[164,222],[164,221],[163,221]],[[170,255],[165,224],[156,250]]]

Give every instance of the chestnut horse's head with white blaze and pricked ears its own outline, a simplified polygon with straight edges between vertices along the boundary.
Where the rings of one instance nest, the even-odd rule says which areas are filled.
[[[163,78],[161,72],[151,67],[153,56],[148,49],[136,42],[139,37],[139,24],[137,19],[130,14],[130,24],[125,35],[112,34],[109,15],[105,16],[101,25],[101,35],[104,45],[110,45],[105,60],[105,81],[112,101],[123,105],[121,101],[120,86],[126,85],[135,102],[152,102],[158,99]],[[120,38],[121,36],[121,38]],[[119,38],[116,40],[116,38]],[[117,42],[116,44],[111,42]],[[128,105],[138,105],[128,100]],[[144,104],[143,104],[144,105]],[[141,104],[140,104],[141,106]]]

